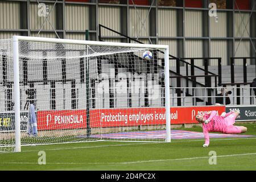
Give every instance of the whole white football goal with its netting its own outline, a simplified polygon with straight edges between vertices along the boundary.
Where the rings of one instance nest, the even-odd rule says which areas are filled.
[[[151,60],[143,59],[145,51]],[[0,151],[94,140],[171,142],[166,45],[13,36],[0,40],[0,60],[0,100],[9,99],[0,112],[14,113],[15,121],[0,127]]]

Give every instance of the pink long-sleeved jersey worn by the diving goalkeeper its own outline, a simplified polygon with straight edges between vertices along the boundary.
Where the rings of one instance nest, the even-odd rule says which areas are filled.
[[[227,113],[225,117],[232,114],[233,112]],[[209,139],[209,131],[212,132],[221,132],[224,133],[226,126],[228,123],[225,122],[224,118],[220,115],[217,115],[217,112],[213,110],[210,114],[205,114],[204,119],[209,119],[209,123],[205,124],[203,123],[203,132],[205,137],[205,144],[209,145],[210,139]]]

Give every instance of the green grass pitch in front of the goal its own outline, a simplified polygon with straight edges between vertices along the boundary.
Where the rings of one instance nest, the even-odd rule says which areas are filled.
[[[256,124],[245,134],[256,135]],[[200,127],[182,129],[201,131]],[[256,170],[255,138],[172,140],[171,143],[88,142],[22,147],[20,153],[0,154],[0,170]],[[38,164],[39,151],[46,164]],[[217,154],[209,164],[209,152]]]

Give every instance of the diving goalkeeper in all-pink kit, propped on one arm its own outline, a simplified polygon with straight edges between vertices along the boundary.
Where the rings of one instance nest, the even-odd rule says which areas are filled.
[[[246,127],[234,126],[235,120],[239,114],[239,111],[232,111],[229,113],[224,112],[221,115],[217,115],[217,112],[213,110],[205,115],[196,115],[196,121],[203,123],[203,132],[205,137],[205,143],[203,147],[209,146],[209,131],[220,132],[224,134],[245,133],[247,131]]]

